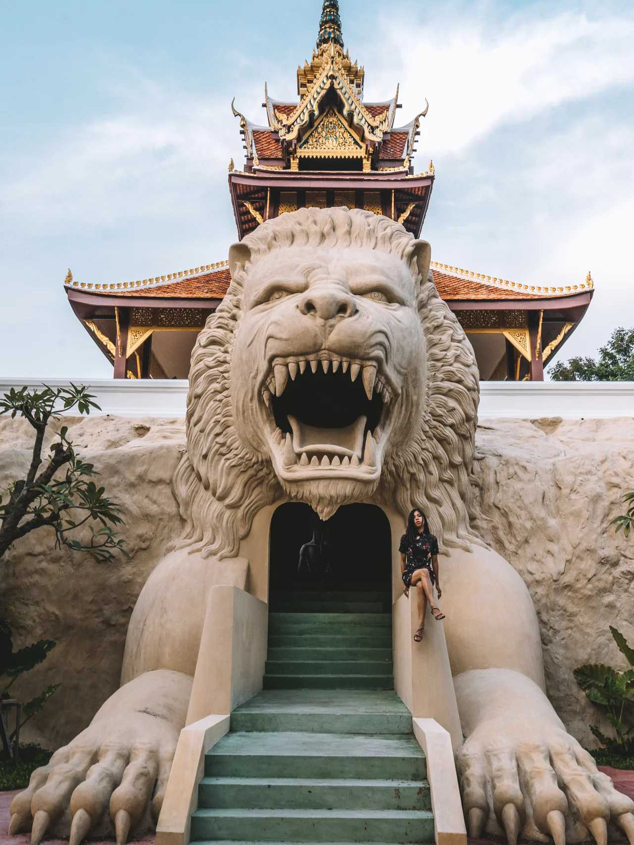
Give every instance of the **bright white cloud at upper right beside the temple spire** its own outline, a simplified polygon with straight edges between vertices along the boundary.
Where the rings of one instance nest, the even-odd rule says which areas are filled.
[[[527,10],[494,23],[475,10],[432,11],[424,24],[406,19],[391,8],[382,22],[367,93],[385,96],[400,79],[403,123],[427,97],[419,148],[433,154],[464,153],[501,124],[634,80],[631,13],[589,19]]]

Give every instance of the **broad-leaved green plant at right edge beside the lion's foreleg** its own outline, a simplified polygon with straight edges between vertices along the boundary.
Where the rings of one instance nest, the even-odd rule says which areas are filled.
[[[596,725],[589,726],[606,752],[598,752],[598,759],[606,763],[622,764],[626,758],[634,756],[634,649],[627,645],[620,631],[612,625],[609,630],[630,668],[620,672],[604,663],[587,663],[577,667],[574,675],[588,699],[604,707],[605,715],[615,730],[616,735],[608,737]],[[632,762],[629,760],[627,767]]]

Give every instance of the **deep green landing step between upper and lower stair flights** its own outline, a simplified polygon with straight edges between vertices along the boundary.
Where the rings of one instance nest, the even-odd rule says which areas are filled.
[[[264,690],[231,714],[232,731],[412,733],[393,690]]]

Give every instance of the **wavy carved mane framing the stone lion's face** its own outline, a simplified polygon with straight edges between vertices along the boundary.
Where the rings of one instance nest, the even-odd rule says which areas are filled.
[[[395,254],[420,282],[418,313],[427,344],[424,412],[414,437],[385,457],[373,499],[402,515],[422,507],[441,544],[471,548],[469,475],[478,411],[478,368],[456,318],[429,273],[420,280],[415,241],[398,223],[371,211],[301,209],[261,224],[244,238],[250,261],[234,273],[226,297],[194,346],[187,401],[187,452],[173,480],[183,535],[175,548],[205,557],[238,554],[257,512],[281,496],[268,455],[243,444],[232,423],[233,340],[242,316],[250,267],[271,249],[290,246],[366,247]]]

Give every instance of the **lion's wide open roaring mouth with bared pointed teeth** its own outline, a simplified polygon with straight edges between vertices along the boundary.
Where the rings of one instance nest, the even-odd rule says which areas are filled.
[[[375,361],[330,352],[276,358],[263,398],[278,471],[298,480],[377,477],[392,395]]]

